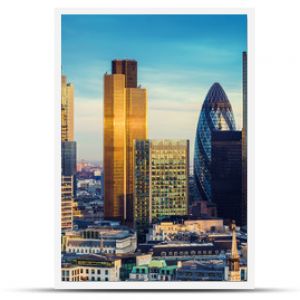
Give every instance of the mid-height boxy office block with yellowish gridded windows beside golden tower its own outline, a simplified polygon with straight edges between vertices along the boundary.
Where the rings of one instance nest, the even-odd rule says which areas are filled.
[[[188,140],[136,140],[135,225],[143,228],[161,217],[187,215],[188,180]]]

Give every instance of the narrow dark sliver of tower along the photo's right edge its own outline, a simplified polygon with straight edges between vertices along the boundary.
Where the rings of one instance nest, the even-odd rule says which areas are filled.
[[[248,63],[247,52],[243,52],[243,129],[242,129],[242,226],[247,226],[247,101],[248,101]]]

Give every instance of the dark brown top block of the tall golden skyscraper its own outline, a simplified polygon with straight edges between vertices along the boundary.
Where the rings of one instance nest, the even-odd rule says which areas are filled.
[[[111,73],[124,74],[126,88],[137,87],[137,61],[136,60],[128,60],[128,59],[113,60],[111,65]]]

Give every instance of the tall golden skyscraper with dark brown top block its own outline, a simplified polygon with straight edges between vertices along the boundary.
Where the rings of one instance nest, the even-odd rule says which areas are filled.
[[[104,75],[104,216],[133,219],[133,141],[147,138],[147,92],[137,62],[114,60]]]

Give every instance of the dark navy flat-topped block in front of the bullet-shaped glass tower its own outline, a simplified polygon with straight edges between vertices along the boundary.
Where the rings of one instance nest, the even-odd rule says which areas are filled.
[[[218,216],[242,225],[242,134],[241,131],[212,131],[212,201]]]

